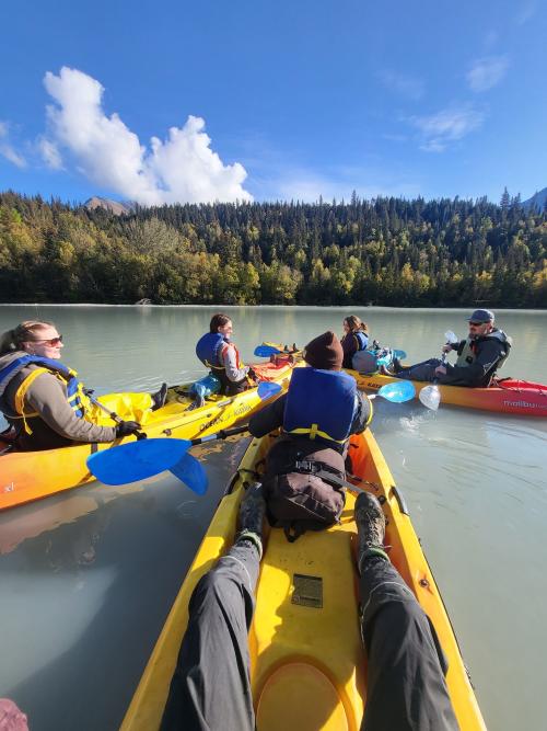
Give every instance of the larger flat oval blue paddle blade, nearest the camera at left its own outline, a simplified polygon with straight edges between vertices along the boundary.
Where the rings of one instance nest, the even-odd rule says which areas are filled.
[[[126,484],[176,465],[191,447],[188,439],[140,439],[88,457],[88,469],[105,484]]]

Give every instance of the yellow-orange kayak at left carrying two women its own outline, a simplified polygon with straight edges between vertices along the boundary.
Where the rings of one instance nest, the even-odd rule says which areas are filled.
[[[279,356],[276,363],[253,367],[260,378],[278,382],[286,390],[294,364],[289,357]],[[191,409],[189,386],[190,384],[186,384],[168,389],[165,406],[152,412],[143,426],[148,436],[179,439],[207,436],[228,429],[241,419],[247,419],[263,406],[257,389],[253,388],[232,397],[211,396],[203,407]],[[133,437],[129,436],[109,444],[79,444],[59,449],[15,452],[0,456],[0,510],[91,482],[95,478],[85,465],[89,455],[131,441]],[[2,445],[0,441],[0,452],[2,446],[8,445]]]

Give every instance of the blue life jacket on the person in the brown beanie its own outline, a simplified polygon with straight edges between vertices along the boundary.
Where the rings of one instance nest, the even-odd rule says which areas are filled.
[[[341,370],[295,368],[284,406],[288,434],[344,444],[357,408],[356,379]]]

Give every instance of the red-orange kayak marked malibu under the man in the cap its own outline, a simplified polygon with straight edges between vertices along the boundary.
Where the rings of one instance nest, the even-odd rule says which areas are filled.
[[[383,376],[379,373],[371,376],[349,369],[347,373],[356,378],[358,388],[364,391],[377,391],[386,384],[400,380],[394,376]],[[412,380],[410,382],[416,387],[416,398],[422,388],[431,386],[428,381]],[[488,388],[443,386],[442,384],[438,386],[441,391],[441,403],[523,416],[547,416],[547,386],[544,384],[503,378],[494,380]]]

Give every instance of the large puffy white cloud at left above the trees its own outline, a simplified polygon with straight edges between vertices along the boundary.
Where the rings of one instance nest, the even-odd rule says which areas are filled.
[[[252,199],[243,189],[245,169],[225,165],[211,150],[200,117],[188,116],[164,141],[152,137],[148,148],[117,114],[105,115],[96,79],[63,67],[59,76],[48,71],[44,84],[55,101],[40,142],[49,165],[62,164],[66,151],[91,181],[143,205]]]

